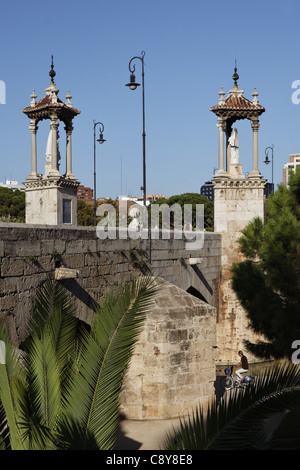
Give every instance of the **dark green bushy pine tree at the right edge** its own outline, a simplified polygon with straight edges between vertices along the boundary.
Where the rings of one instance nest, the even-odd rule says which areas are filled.
[[[240,238],[245,261],[234,264],[232,285],[250,325],[265,342],[246,342],[256,356],[291,357],[300,339],[300,171],[267,200],[266,223],[252,221]]]

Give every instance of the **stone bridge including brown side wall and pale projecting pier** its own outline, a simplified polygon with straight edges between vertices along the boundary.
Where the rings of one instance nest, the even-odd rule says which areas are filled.
[[[203,246],[190,250],[174,237],[100,240],[94,228],[2,223],[0,260],[0,314],[15,345],[47,278],[63,280],[89,323],[108,290],[151,270],[163,288],[132,359],[122,411],[137,419],[181,416],[214,394],[219,234],[205,232]]]

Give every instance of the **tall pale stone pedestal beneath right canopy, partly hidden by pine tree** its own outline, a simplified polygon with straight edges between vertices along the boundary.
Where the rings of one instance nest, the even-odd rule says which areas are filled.
[[[265,180],[214,179],[215,231],[222,234],[222,275],[217,319],[217,362],[236,364],[243,340],[255,341],[249,321],[231,285],[233,263],[242,261],[238,239],[255,217],[264,219]],[[256,361],[246,353],[250,361]]]

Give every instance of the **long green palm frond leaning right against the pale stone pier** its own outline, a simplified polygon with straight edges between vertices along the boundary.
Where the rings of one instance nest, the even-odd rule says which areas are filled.
[[[101,449],[115,444],[124,374],[156,291],[151,277],[141,277],[108,295],[86,338],[68,415],[82,423]]]

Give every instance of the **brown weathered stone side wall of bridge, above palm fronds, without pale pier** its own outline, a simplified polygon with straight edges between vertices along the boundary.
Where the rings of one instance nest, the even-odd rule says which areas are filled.
[[[16,345],[24,337],[36,289],[61,267],[78,272],[63,282],[87,322],[109,289],[148,268],[183,290],[192,287],[215,306],[220,236],[206,233],[198,251],[188,250],[184,240],[152,240],[150,252],[149,240],[100,240],[94,228],[0,223],[0,316],[6,315]]]

